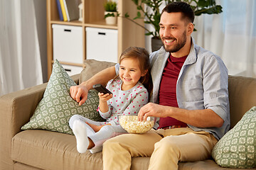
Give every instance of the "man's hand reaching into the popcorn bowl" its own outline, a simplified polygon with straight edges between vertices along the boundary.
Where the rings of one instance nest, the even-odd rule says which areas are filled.
[[[165,118],[166,117],[166,106],[161,106],[159,104],[156,103],[147,103],[145,106],[143,106],[140,110],[139,110],[139,121],[146,121],[146,118],[148,116],[154,116],[157,118]]]

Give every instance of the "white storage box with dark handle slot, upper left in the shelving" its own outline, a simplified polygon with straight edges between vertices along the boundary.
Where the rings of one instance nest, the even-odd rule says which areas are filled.
[[[53,24],[53,59],[83,64],[82,27]]]

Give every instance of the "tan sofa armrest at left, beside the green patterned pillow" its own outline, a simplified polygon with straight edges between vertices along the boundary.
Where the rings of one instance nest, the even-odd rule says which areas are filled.
[[[79,74],[72,79],[78,83]],[[12,169],[11,140],[28,123],[47,83],[0,96],[0,169]]]

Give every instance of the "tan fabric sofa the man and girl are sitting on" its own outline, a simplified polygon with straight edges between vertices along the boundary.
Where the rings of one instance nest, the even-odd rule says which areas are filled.
[[[108,62],[86,60],[86,67],[72,77],[79,84],[105,67]],[[256,106],[256,79],[229,76],[231,128],[252,106]],[[76,150],[74,135],[48,130],[21,130],[28,123],[38,103],[43,98],[46,84],[33,86],[0,97],[0,169],[102,169],[102,152],[80,154]],[[132,158],[133,170],[147,169],[149,157]],[[214,159],[198,162],[179,162],[178,169],[218,170]]]

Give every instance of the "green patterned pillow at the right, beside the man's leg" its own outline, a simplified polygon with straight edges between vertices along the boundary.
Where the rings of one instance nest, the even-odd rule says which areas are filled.
[[[256,106],[217,142],[212,156],[223,167],[256,167]]]

